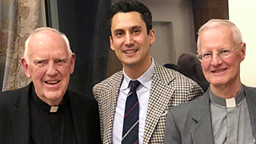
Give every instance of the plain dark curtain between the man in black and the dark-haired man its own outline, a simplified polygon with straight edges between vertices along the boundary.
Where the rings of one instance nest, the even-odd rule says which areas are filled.
[[[111,0],[58,0],[59,30],[76,54],[69,88],[92,95],[95,83],[106,78],[109,30],[106,25]]]

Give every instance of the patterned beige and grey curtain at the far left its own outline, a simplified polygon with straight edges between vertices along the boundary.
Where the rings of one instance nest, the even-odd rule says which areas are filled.
[[[0,2],[0,73],[2,91],[14,90],[30,82],[20,58],[25,42],[38,26],[40,0],[4,0]]]

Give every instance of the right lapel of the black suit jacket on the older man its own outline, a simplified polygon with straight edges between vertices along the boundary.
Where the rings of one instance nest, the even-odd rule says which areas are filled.
[[[78,105],[78,99],[70,97],[72,97],[72,95],[68,95],[68,100],[70,103],[70,111],[74,122],[74,131],[76,134],[75,136],[77,138],[77,142],[79,144],[83,144],[87,142],[85,122],[87,121],[86,118],[89,118],[89,116],[86,117],[85,111],[81,106]]]

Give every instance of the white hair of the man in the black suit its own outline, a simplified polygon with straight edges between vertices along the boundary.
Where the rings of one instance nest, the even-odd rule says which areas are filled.
[[[59,32],[58,30],[55,30],[55,29],[50,28],[50,27],[40,27],[40,28],[34,30],[34,31],[32,32],[32,34],[30,34],[30,37],[26,39],[26,42],[25,42],[25,51],[24,51],[24,54],[23,54],[23,57],[26,59],[26,62],[29,61],[29,58],[28,58],[28,45],[29,45],[29,42],[30,42],[30,38],[32,38],[34,34],[37,34],[38,32],[43,31],[43,30],[50,30],[50,31],[53,31],[54,33],[60,34],[60,35],[62,36],[62,38],[64,39],[64,41],[66,42],[66,48],[67,48],[69,57],[71,58],[71,56],[72,56],[72,50],[70,49],[70,42],[69,42],[69,39],[66,38],[66,35],[65,35],[65,34],[62,34],[62,33]]]

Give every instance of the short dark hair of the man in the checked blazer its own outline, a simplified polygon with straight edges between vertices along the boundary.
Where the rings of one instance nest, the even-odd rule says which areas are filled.
[[[110,35],[112,18],[114,17],[114,14],[118,14],[120,12],[128,13],[131,11],[136,11],[141,15],[142,20],[146,23],[147,34],[150,34],[150,30],[152,29],[152,16],[149,8],[141,2],[135,0],[122,0],[117,3],[114,3],[114,5],[112,5],[109,10],[107,24],[110,29]]]

